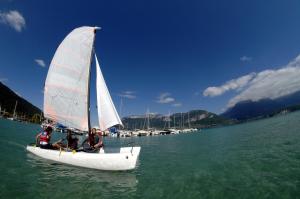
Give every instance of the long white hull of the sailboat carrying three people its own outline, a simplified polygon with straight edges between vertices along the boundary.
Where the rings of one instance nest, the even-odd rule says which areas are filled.
[[[41,149],[27,146],[27,151],[56,162],[64,164],[109,171],[132,170],[136,167],[141,147],[123,147],[119,153],[67,152],[59,150]]]

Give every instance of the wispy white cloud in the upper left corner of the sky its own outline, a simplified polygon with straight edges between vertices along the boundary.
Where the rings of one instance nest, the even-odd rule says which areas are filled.
[[[26,25],[24,17],[17,10],[11,10],[8,12],[0,11],[0,23],[9,25],[17,32],[21,32]]]

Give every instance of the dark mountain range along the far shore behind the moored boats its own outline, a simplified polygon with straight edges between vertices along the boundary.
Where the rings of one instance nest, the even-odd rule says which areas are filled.
[[[42,111],[0,82],[0,115],[12,117],[16,102],[18,118],[31,122],[39,122]],[[174,113],[170,116],[162,114],[134,115],[122,118],[127,129],[151,128],[207,128],[229,125],[247,120],[271,117],[282,112],[300,110],[300,92],[276,99],[259,101],[243,101],[217,115],[205,110],[192,110],[185,113]]]

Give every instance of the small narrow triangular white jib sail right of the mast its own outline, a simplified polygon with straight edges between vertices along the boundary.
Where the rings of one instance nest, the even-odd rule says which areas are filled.
[[[104,77],[100,70],[97,56],[95,54],[96,70],[97,70],[97,107],[100,130],[104,131],[114,125],[120,124],[122,121],[118,115],[115,105],[111,99]]]

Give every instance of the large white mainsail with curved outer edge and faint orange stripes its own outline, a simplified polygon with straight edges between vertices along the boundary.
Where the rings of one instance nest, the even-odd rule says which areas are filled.
[[[44,114],[68,127],[87,131],[89,75],[94,27],[74,29],[51,61],[44,90]]]

